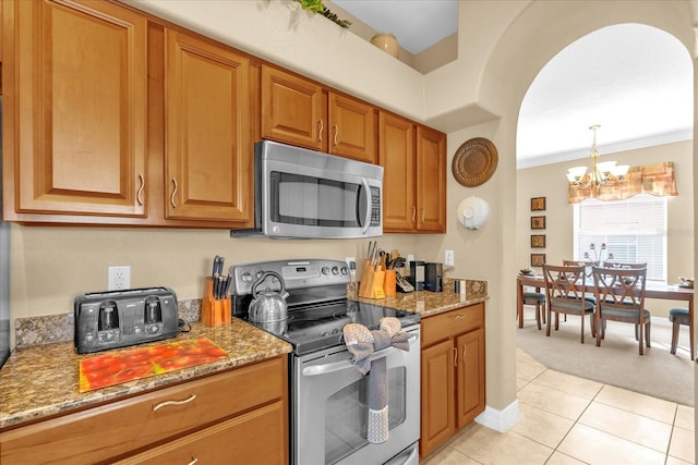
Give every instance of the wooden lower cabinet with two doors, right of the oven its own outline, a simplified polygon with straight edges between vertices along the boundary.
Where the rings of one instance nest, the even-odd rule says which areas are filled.
[[[420,455],[485,408],[484,304],[422,319]]]

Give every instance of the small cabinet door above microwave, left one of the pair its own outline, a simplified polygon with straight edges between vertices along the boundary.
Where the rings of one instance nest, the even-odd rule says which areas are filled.
[[[322,87],[265,65],[261,87],[262,137],[321,150],[327,134]]]

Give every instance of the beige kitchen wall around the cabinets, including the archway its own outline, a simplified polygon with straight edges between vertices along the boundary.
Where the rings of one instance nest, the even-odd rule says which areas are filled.
[[[132,3],[447,132],[449,162],[470,137],[495,143],[500,164],[484,185],[462,187],[449,172],[447,234],[395,235],[380,242],[434,260],[452,248],[454,276],[490,282],[486,396],[488,406],[497,411],[516,401],[516,127],[526,89],[556,52],[595,28],[623,22],[652,24],[694,50],[691,25],[698,23],[685,0],[462,1],[458,59],[422,75],[350,30],[300,12],[288,0]],[[455,207],[473,194],[490,203],[491,218],[482,230],[466,231],[455,223]],[[104,289],[108,265],[131,265],[133,285],[170,285],[184,298],[201,295],[214,254],[225,255],[231,265],[299,256],[344,258],[359,255],[365,246],[323,241],[238,243],[221,231],[19,225],[12,227],[11,240],[13,318],[71,311],[73,295]]]

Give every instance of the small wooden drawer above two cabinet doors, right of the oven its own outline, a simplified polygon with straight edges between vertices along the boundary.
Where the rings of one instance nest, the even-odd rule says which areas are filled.
[[[484,326],[484,303],[422,319],[422,347]]]

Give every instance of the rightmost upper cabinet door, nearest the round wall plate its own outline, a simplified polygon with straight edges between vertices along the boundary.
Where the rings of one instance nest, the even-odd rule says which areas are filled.
[[[446,135],[417,129],[417,229],[446,232]]]

